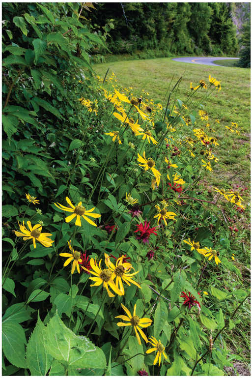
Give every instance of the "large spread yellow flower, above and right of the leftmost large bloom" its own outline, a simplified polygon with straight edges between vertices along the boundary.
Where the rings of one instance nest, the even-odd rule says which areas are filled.
[[[67,223],[70,222],[72,219],[74,219],[76,217],[75,225],[76,226],[81,226],[82,225],[82,223],[81,223],[81,216],[82,216],[85,221],[87,221],[88,223],[90,223],[90,225],[97,227],[97,225],[93,221],[91,221],[91,219],[88,218],[88,217],[91,217],[91,218],[100,218],[101,214],[92,213],[92,211],[95,209],[95,207],[92,207],[90,210],[86,210],[84,208],[84,206],[82,206],[82,202],[79,202],[79,204],[77,206],[74,206],[71,203],[71,201],[69,200],[68,197],[66,197],[66,202],[71,207],[63,206],[63,205],[59,204],[58,202],[55,203],[55,205],[60,210],[69,211],[70,213],[73,213],[73,214],[69,215],[68,217],[66,217],[65,221]]]

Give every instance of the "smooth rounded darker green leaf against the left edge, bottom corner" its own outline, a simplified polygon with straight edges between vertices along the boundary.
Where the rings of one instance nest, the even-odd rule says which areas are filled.
[[[2,323],[2,349],[7,360],[14,366],[26,368],[26,335],[24,329],[13,320]]]

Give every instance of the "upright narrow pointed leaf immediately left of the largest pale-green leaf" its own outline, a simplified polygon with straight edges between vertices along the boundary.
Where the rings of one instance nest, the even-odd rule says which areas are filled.
[[[26,350],[27,366],[31,376],[46,376],[51,366],[53,357],[47,350],[47,337],[46,327],[40,320],[38,311],[38,320]]]

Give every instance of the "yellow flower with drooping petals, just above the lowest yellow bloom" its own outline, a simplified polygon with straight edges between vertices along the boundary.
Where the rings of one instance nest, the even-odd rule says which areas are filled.
[[[126,314],[128,316],[125,316],[125,315],[118,315],[117,317],[115,318],[120,318],[124,321],[128,321],[127,323],[122,323],[122,322],[118,322],[117,325],[118,327],[124,327],[125,325],[128,326],[128,325],[132,325],[134,327],[134,330],[136,332],[136,336],[137,336],[137,339],[138,339],[138,343],[139,345],[141,345],[141,341],[140,341],[140,336],[138,334],[138,331],[141,335],[141,337],[143,338],[143,340],[147,343],[148,342],[148,339],[147,337],[145,336],[145,334],[142,332],[141,328],[140,327],[143,327],[143,328],[146,328],[146,327],[149,327],[152,323],[152,320],[149,319],[149,318],[139,318],[137,315],[136,315],[136,307],[137,305],[135,304],[134,306],[134,310],[133,310],[133,316],[131,315],[130,311],[121,303],[121,306],[123,308],[123,310],[126,312]]]

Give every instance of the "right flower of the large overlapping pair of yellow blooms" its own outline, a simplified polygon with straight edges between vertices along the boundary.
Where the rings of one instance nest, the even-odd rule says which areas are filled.
[[[141,289],[140,285],[133,281],[132,277],[138,274],[139,272],[129,273],[131,269],[133,269],[133,266],[130,262],[123,262],[123,258],[125,256],[121,256],[116,260],[115,265],[110,261],[109,255],[107,253],[105,255],[105,263],[108,266],[108,268],[112,271],[112,280],[115,279],[115,286],[116,288],[124,294],[124,287],[122,284],[122,280],[128,285],[130,285],[130,282],[133,285],[136,285],[138,288]]]

